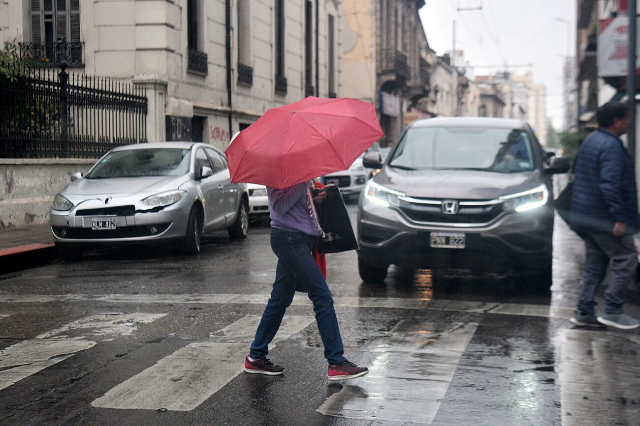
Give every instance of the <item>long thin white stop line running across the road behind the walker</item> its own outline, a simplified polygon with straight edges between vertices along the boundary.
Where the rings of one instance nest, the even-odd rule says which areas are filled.
[[[109,303],[200,303],[205,305],[265,305],[269,294],[0,294],[0,303],[48,303],[53,301],[97,301]],[[490,314],[539,316],[568,319],[573,307],[548,307],[527,303],[493,303],[465,300],[424,300],[412,298],[360,298],[337,296],[337,307],[450,310],[456,312],[489,312]],[[311,306],[305,294],[296,294],[292,305]]]

